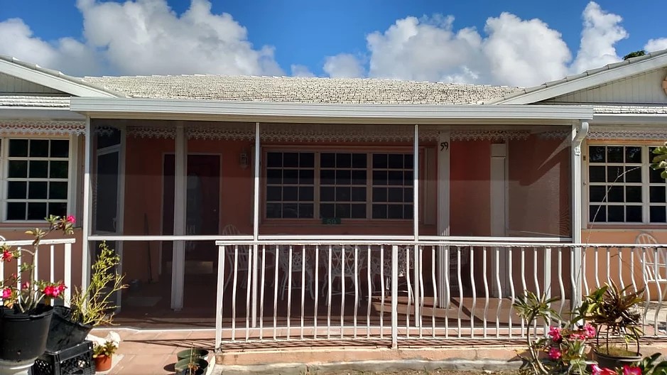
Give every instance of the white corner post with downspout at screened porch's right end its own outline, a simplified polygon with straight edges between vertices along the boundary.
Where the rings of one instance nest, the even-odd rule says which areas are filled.
[[[588,134],[588,123],[582,121],[580,126],[576,124],[572,126],[572,157],[570,159],[572,165],[572,241],[575,244],[581,244],[581,143]],[[572,305],[570,308],[574,309],[581,305],[582,300],[582,249],[580,247],[573,248],[570,256],[570,280],[572,281]]]

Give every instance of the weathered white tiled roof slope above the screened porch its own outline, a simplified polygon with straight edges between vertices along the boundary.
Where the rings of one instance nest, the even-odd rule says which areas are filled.
[[[163,75],[85,77],[129,97],[337,104],[475,104],[519,87],[379,79]]]

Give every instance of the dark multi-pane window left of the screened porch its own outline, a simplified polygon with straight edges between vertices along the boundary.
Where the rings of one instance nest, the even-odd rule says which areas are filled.
[[[70,141],[5,138],[4,219],[67,214]]]

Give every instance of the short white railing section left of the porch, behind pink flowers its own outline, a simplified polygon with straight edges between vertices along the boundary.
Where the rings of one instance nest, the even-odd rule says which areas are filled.
[[[50,283],[63,281],[63,283],[65,283],[65,286],[67,286],[63,295],[63,303],[65,305],[69,305],[70,297],[72,295],[72,244],[75,242],[76,239],[73,238],[42,239],[40,240],[40,246],[38,251],[36,251],[34,260],[35,280],[44,280],[49,281]],[[6,241],[4,237],[0,237],[0,246],[4,245],[11,246],[13,249],[21,249],[23,247],[33,251],[33,240]],[[11,273],[13,273],[13,270],[15,269],[16,276],[18,277],[17,282],[20,284],[21,276],[23,276],[21,274],[21,261],[24,261],[26,258],[30,259],[30,257],[30,254],[23,252],[18,261],[10,263],[0,262],[0,280],[5,280],[6,268],[9,268]],[[63,259],[62,279],[56,278],[58,273],[55,268],[55,263],[59,258]],[[13,263],[16,264],[16,268],[13,268]],[[46,266],[44,266],[44,264],[46,264]],[[44,273],[46,273],[46,275]],[[85,275],[82,275],[82,278],[85,278]],[[0,302],[1,301],[2,298],[0,298]],[[55,301],[51,300],[51,303],[53,304]]]

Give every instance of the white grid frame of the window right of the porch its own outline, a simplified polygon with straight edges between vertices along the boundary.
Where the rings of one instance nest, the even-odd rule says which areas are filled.
[[[605,147],[640,147],[641,148],[641,203],[637,202],[634,205],[639,205],[641,206],[641,222],[593,222],[590,219],[590,207],[594,205],[609,205],[609,202],[591,202],[590,200],[590,187],[592,185],[607,185],[609,186],[610,183],[591,183],[590,182],[590,147],[595,147],[595,146],[605,146]],[[585,173],[585,197],[586,197],[586,205],[585,205],[585,219],[588,224],[588,227],[595,225],[596,227],[614,227],[614,226],[621,226],[621,227],[637,227],[637,226],[658,226],[658,227],[667,227],[667,222],[650,222],[650,210],[651,206],[656,206],[656,205],[662,205],[667,207],[667,202],[661,202],[661,203],[656,203],[650,202],[650,188],[651,186],[657,186],[657,185],[663,185],[663,184],[658,184],[658,183],[651,183],[650,181],[650,173],[651,173],[651,161],[653,160],[653,154],[650,153],[650,148],[662,146],[661,143],[654,143],[654,142],[636,142],[636,143],[631,143],[631,142],[589,142],[585,146],[585,170],[583,171]],[[600,165],[604,166],[605,168],[608,165],[617,165],[617,164],[622,164],[626,165],[626,163],[609,163],[608,161],[605,161],[605,163],[595,163],[593,165]],[[613,183],[611,183],[614,185]],[[625,186],[625,185],[637,185],[638,183],[617,183],[617,186]],[[667,184],[667,183],[666,183]],[[622,207],[625,207],[625,203],[618,203],[618,204],[612,204],[612,205],[620,205]],[[666,208],[667,209],[667,208]]]

